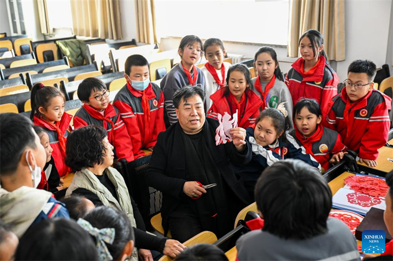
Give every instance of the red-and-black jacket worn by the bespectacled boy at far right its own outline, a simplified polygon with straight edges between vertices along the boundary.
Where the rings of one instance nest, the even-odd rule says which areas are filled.
[[[388,141],[392,99],[372,90],[351,103],[346,88],[330,101],[325,126],[336,130],[349,149],[362,159],[376,160],[378,149]]]

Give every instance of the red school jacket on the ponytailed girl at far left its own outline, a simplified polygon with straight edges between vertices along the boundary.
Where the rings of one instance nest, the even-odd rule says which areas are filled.
[[[72,119],[72,115],[68,113],[63,113],[61,120],[56,122],[56,126],[59,128],[60,132],[63,134],[63,137],[66,139],[68,134],[72,131],[70,122]],[[33,124],[36,126],[42,127],[45,132],[49,136],[49,143],[53,149],[52,157],[55,161],[55,166],[60,177],[63,177],[70,173],[72,170],[68,166],[65,165],[65,147],[64,151],[61,148],[56,132],[56,128],[53,126],[54,124],[46,121],[45,119],[38,118],[37,115],[33,118]]]

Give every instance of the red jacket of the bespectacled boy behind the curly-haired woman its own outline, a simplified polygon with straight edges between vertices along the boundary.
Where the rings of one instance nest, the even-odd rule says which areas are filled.
[[[108,104],[104,110],[104,116],[93,107],[83,105],[74,116],[74,128],[79,129],[87,125],[104,127],[108,133],[108,141],[113,145],[118,159],[125,159],[127,162],[134,160],[132,143],[126,125],[120,117],[119,110],[112,104]]]

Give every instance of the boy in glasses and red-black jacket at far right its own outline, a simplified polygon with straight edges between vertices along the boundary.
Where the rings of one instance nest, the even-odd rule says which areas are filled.
[[[358,153],[360,162],[377,166],[378,149],[388,141],[392,99],[374,89],[376,66],[369,60],[353,61],[345,88],[329,103],[324,124],[336,130]]]

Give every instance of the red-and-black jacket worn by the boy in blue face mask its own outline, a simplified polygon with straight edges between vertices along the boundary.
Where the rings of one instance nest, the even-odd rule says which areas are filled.
[[[155,83],[150,83],[144,92],[148,99],[146,106],[150,109],[150,120],[146,118],[149,117],[145,114],[147,108],[143,109],[142,106],[142,93],[132,88],[128,82],[116,94],[113,101],[113,105],[119,109],[120,117],[127,126],[134,159],[144,156],[142,148],[154,147],[158,134],[165,131],[163,92]]]

